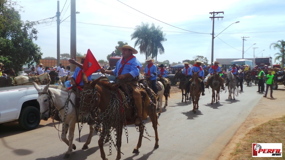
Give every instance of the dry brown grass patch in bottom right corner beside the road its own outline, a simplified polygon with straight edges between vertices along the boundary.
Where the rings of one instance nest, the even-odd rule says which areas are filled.
[[[236,150],[231,153],[234,160],[285,159],[285,153],[282,154],[282,158],[252,157],[252,143],[282,143],[282,148],[285,148],[285,116],[251,129],[245,139],[236,145]]]

